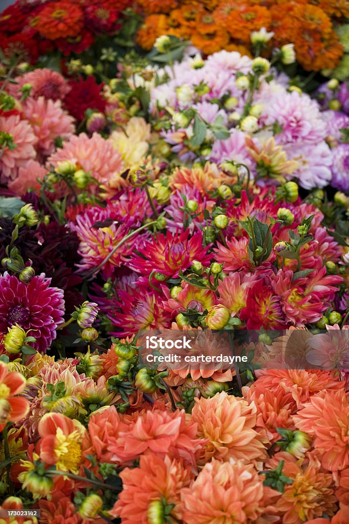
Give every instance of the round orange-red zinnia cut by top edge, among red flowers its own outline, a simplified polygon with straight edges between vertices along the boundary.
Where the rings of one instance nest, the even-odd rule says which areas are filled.
[[[77,35],[83,28],[83,12],[71,2],[53,2],[40,11],[36,29],[49,40]]]

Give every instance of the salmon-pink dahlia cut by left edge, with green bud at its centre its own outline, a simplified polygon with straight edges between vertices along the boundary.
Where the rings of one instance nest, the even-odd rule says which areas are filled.
[[[6,141],[5,141],[6,140]],[[0,181],[17,177],[18,168],[25,167],[28,160],[36,157],[37,137],[26,120],[19,115],[0,117],[0,148],[4,150],[0,158]],[[15,147],[9,147],[9,142]]]

